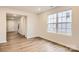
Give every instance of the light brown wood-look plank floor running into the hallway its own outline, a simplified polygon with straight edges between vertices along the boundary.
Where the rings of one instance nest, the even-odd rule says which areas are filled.
[[[7,43],[0,44],[1,52],[70,52],[68,48],[42,38],[26,39],[16,32],[8,33],[7,40]]]

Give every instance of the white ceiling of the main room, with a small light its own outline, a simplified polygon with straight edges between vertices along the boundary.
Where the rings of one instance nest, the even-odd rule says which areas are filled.
[[[6,6],[6,7],[18,9],[26,12],[36,13],[36,14],[54,8],[54,6]]]

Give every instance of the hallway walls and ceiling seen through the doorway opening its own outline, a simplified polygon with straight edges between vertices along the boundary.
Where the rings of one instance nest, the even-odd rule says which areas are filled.
[[[6,20],[7,20],[7,41],[9,39],[8,35],[20,34],[26,37],[27,16],[7,13]]]

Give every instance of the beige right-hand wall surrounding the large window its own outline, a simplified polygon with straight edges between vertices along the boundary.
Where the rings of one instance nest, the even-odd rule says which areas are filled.
[[[64,11],[68,8],[72,9],[72,36],[66,36],[62,34],[56,33],[48,33],[47,32],[47,20],[48,15],[51,13],[56,13],[60,11]],[[55,9],[51,9],[47,12],[44,12],[39,15],[40,22],[40,37],[45,38],[47,40],[57,42],[59,44],[71,47],[73,49],[79,50],[79,7],[56,7]]]

